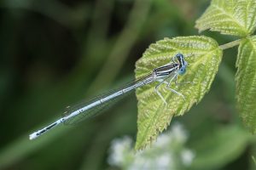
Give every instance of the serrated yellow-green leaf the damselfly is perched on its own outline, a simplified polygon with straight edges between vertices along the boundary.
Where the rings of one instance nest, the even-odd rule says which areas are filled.
[[[154,68],[171,62],[173,56],[182,53],[188,56],[188,69],[185,75],[179,76],[177,82],[185,83],[173,89],[185,96],[172,93],[166,86],[160,86],[160,94],[166,99],[165,105],[154,92],[159,82],[153,82],[137,89],[138,99],[138,132],[136,150],[143,149],[150,144],[160,132],[170,124],[172,116],[183,115],[192,105],[198,103],[211,87],[213,78],[218,71],[222,58],[222,50],[218,43],[209,37],[176,37],[166,38],[156,42],[146,50],[143,57],[137,61],[136,77],[143,77]],[[189,56],[190,55],[190,56]]]

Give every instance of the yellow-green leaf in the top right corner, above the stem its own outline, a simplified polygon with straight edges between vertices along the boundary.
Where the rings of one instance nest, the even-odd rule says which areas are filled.
[[[255,0],[212,0],[195,27],[238,37],[253,34],[256,28]]]

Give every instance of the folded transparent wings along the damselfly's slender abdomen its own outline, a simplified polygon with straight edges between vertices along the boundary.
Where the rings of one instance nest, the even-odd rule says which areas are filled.
[[[147,75],[145,77],[142,77],[142,78],[139,78],[137,79],[137,81],[134,81],[134,82],[131,82],[131,83],[128,83],[126,84],[123,88],[119,88],[119,89],[115,89],[115,90],[112,90],[106,94],[102,94],[100,96],[97,96],[96,98],[94,99],[91,99],[90,101],[87,101],[87,102],[82,102],[80,103],[79,105],[73,105],[73,106],[68,106],[67,107],[67,111],[65,111],[62,116],[68,116],[70,115],[71,113],[73,113],[74,111],[78,111],[80,108],[83,108],[85,105],[90,105],[100,99],[103,99],[105,97],[108,97],[109,95],[111,94],[114,94],[115,92],[118,92],[119,90],[122,90],[124,88],[129,88],[129,87],[132,87],[134,85],[136,85],[138,82],[141,82],[143,81],[145,78],[147,77],[151,77],[151,74],[150,75]],[[110,108],[111,106],[113,106],[115,103],[117,103],[119,100],[123,99],[127,94],[131,94],[131,92],[134,91],[135,88],[131,89],[129,92],[125,93],[125,94],[121,94],[113,99],[109,99],[108,101],[105,101],[103,102],[101,105],[96,105],[86,111],[81,111],[79,113],[79,115],[77,116],[73,116],[69,119],[67,119],[64,124],[65,125],[75,125],[75,124],[78,124],[79,122],[82,122],[84,121],[85,119],[88,119],[90,117],[94,117],[94,116],[97,116],[99,115],[100,113],[102,113],[102,111],[106,111],[108,110],[108,108]]]

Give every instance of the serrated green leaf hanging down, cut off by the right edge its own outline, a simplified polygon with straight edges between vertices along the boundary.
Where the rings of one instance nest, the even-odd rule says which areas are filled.
[[[236,99],[245,125],[256,132],[256,36],[244,39],[236,61]]]

